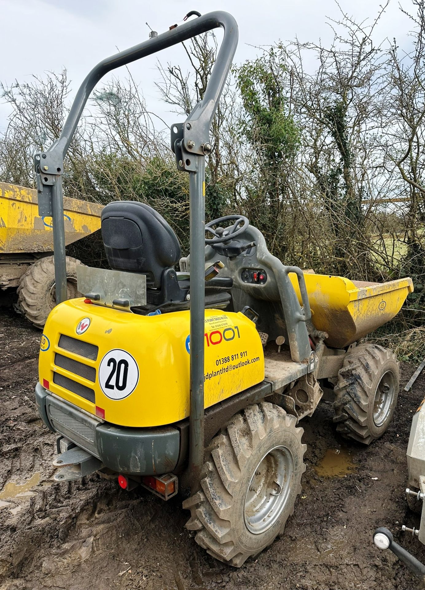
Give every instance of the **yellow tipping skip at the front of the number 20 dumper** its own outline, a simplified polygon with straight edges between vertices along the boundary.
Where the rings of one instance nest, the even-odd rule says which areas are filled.
[[[289,274],[299,302],[298,280]],[[327,332],[328,346],[344,348],[393,319],[408,293],[413,293],[411,278],[388,283],[351,281],[325,274],[304,274],[312,321],[317,330]]]

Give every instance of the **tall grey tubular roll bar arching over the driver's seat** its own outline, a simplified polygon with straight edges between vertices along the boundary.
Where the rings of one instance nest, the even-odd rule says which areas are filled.
[[[218,27],[224,29],[223,41],[203,100],[196,105],[182,126],[182,140],[179,145],[182,159],[177,164],[177,168],[190,173],[190,438],[187,473],[192,481],[199,477],[204,453],[205,155],[210,152],[211,147],[210,124],[238,45],[238,25],[235,19],[228,12],[209,12],[101,61],[78,89],[60,137],[47,152],[34,156],[39,215],[52,216],[56,300],[60,303],[67,299],[61,178],[63,162],[91,91],[109,71]]]

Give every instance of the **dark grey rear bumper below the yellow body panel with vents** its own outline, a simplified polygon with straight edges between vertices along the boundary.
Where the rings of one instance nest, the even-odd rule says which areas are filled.
[[[103,422],[35,386],[39,415],[52,432],[59,432],[78,447],[118,473],[151,476],[170,473],[180,455],[180,431],[160,428],[126,428]]]

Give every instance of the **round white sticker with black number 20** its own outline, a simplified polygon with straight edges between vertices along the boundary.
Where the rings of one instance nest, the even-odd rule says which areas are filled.
[[[115,348],[106,353],[99,366],[99,385],[110,399],[124,399],[136,388],[139,367],[125,350]]]

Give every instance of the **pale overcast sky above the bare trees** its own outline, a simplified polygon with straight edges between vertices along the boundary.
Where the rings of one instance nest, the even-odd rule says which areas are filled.
[[[369,18],[371,22],[383,1],[340,0],[340,6],[357,21]],[[410,0],[402,0],[402,4],[410,9]],[[146,21],[154,30],[163,32],[181,21],[189,10],[197,9],[203,14],[214,9],[226,10],[239,25],[235,63],[240,63],[255,57],[257,50],[252,45],[295,37],[300,41],[329,42],[333,34],[327,17],[339,18],[341,14],[334,0],[0,0],[0,9],[0,80],[6,84],[15,79],[31,81],[31,74],[60,72],[66,67],[72,81],[71,97],[98,61],[116,53],[117,48],[123,50],[148,38]],[[396,37],[401,47],[407,47],[409,28],[398,1],[391,0],[374,40]],[[159,78],[155,69],[157,58],[174,65],[186,63],[180,48],[174,47],[130,64],[130,71],[143,89],[149,110],[171,123],[175,115],[167,114],[169,107],[160,103],[154,86]],[[127,73],[120,68],[114,75],[124,78]],[[0,99],[0,131],[5,129],[8,113],[9,107]]]

